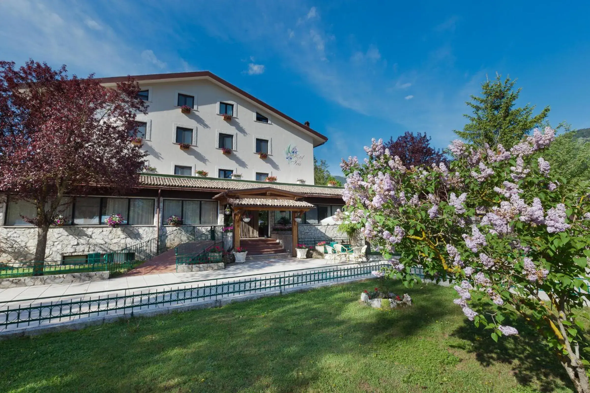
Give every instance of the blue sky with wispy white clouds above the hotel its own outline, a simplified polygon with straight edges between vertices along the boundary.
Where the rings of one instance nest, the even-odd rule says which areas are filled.
[[[590,4],[360,1],[0,1],[0,59],[99,77],[209,70],[330,138],[339,174],[372,137],[463,127],[486,74],[520,103],[590,127]]]

